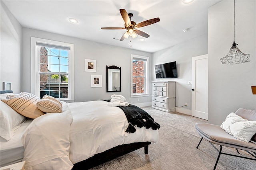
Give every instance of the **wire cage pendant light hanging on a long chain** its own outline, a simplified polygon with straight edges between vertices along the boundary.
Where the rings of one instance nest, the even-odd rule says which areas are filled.
[[[234,42],[232,47],[228,51],[228,54],[221,58],[220,61],[222,64],[239,64],[249,62],[248,59],[250,54],[242,53],[237,47],[235,43],[235,0],[234,0]]]

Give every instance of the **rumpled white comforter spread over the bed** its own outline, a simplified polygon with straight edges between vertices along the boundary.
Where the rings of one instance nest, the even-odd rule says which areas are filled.
[[[126,133],[122,109],[105,101],[63,103],[63,113],[47,113],[22,137],[26,169],[69,170],[73,164],[118,145],[158,141],[158,130],[136,127]]]

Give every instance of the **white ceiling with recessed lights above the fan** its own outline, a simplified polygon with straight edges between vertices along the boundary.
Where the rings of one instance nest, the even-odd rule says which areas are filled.
[[[155,52],[208,33],[208,8],[220,0],[3,0],[23,27],[68,35],[89,41]],[[119,9],[132,13],[140,23],[152,18],[160,21],[138,28],[149,34],[145,41],[138,35],[119,41],[126,30]],[[76,18],[79,23],[68,21]],[[183,29],[189,28],[188,32]],[[132,45],[132,47],[130,47]]]

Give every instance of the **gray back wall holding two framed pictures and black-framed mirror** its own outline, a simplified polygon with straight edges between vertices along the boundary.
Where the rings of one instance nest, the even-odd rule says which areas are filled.
[[[22,91],[30,92],[30,37],[74,44],[75,102],[111,99],[110,96],[112,94],[121,94],[122,96],[125,96],[126,100],[131,104],[138,103],[137,98],[130,98],[131,55],[142,55],[150,57],[151,59],[151,53],[136,51],[129,48],[115,47],[29,28],[23,28]],[[97,72],[84,72],[84,59],[96,60]],[[122,67],[122,92],[106,92],[106,65]],[[91,88],[91,75],[102,75],[102,87]],[[140,97],[140,103],[146,102],[151,102],[151,96]]]

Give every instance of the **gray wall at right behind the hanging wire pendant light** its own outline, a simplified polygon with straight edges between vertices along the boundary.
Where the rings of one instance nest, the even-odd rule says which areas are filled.
[[[256,1],[236,1],[235,42],[250,62],[220,63],[233,43],[234,2],[221,1],[208,13],[208,122],[220,125],[239,107],[256,109]]]

